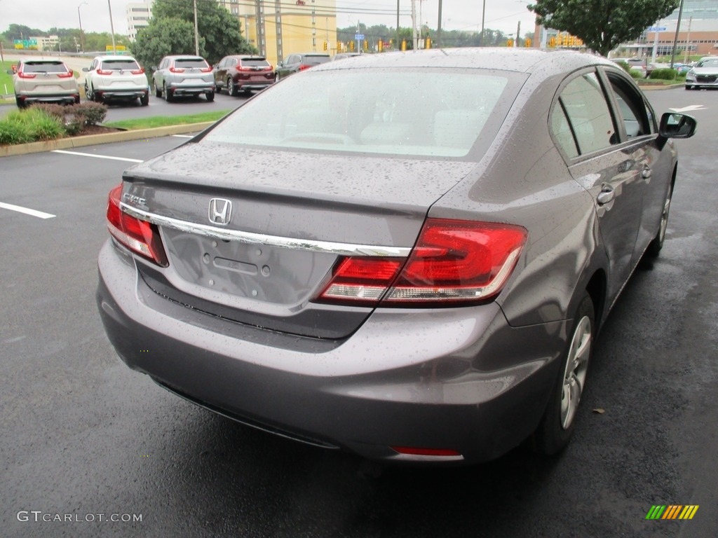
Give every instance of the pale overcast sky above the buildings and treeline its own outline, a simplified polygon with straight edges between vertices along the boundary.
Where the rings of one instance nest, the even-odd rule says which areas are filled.
[[[411,1],[400,1],[401,11],[411,13]],[[112,22],[118,34],[127,32],[127,4],[129,0],[109,0]],[[428,23],[431,28],[436,28],[439,0],[424,0],[421,2],[421,9],[419,4],[419,0],[416,0],[417,19]],[[516,33],[518,22],[521,22],[521,35],[532,32],[534,15],[526,9],[526,4],[528,1],[486,0],[485,27],[513,34]],[[110,32],[108,0],[0,0],[0,31],[4,32],[9,24],[24,24],[41,30],[52,27],[78,28],[78,6],[83,30]],[[442,27],[449,30],[476,31],[481,28],[481,8],[482,0],[444,0]],[[337,14],[338,27],[356,24],[357,19],[369,26],[396,26],[396,0],[337,0],[337,11],[341,11]],[[369,14],[372,11],[375,14]],[[383,12],[386,14],[376,14]],[[411,16],[402,15],[399,23],[402,27],[411,27]]]

